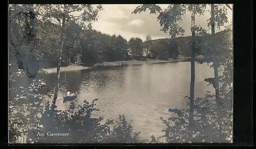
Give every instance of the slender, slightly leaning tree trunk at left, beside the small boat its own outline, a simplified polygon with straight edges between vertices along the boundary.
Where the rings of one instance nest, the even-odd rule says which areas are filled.
[[[64,8],[63,8],[63,12],[66,12],[66,5],[64,4]],[[51,110],[54,111],[55,109],[55,104],[56,104],[56,100],[58,97],[58,92],[59,92],[59,76],[60,76],[60,66],[61,66],[61,62],[62,62],[62,50],[64,48],[64,40],[65,40],[65,23],[66,23],[66,17],[63,16],[62,18],[62,27],[61,27],[61,35],[60,35],[60,48],[59,48],[59,52],[58,52],[58,65],[57,65],[57,78],[56,78],[56,85],[55,85],[55,91],[54,91],[54,97],[53,97],[53,102],[52,102],[52,108]]]

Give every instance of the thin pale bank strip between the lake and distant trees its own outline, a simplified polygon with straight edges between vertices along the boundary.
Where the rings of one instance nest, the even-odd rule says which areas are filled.
[[[173,62],[189,62],[190,57],[183,57],[178,59],[169,59],[169,60],[154,60],[154,59],[146,59],[146,61],[140,60],[130,60],[130,61],[115,61],[115,62],[103,62],[102,64],[95,64],[93,69],[98,68],[111,68],[111,67],[118,67],[118,66],[127,66],[127,65],[142,65],[142,64],[157,64],[157,63],[173,63]],[[124,64],[120,65],[121,62]],[[42,68],[43,70],[47,71],[47,73],[56,73],[57,68]],[[60,67],[61,72],[65,71],[78,71],[83,69],[91,69],[90,67],[79,66],[79,65],[70,65],[66,67]]]

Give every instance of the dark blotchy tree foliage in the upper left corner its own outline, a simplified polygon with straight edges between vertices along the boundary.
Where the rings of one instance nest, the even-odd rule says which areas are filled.
[[[27,71],[28,78],[35,78],[39,69],[36,45],[36,13],[26,5],[10,5],[10,49],[15,54],[19,69]]]

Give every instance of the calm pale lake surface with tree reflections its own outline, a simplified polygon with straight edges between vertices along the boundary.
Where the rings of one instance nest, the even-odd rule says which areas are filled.
[[[66,73],[66,74],[65,74]],[[46,76],[47,85],[54,89],[56,74]],[[205,91],[213,91],[204,78],[214,77],[207,66],[196,65],[195,96],[203,96]],[[100,109],[94,116],[117,119],[124,114],[133,120],[135,131],[149,138],[152,134],[162,135],[165,127],[160,117],[170,117],[169,108],[183,108],[185,95],[189,95],[190,63],[146,64],[116,67],[108,70],[80,70],[62,72],[57,106],[61,110],[70,108],[71,103],[82,105],[83,100],[98,98],[96,107]],[[70,90],[78,92],[77,100],[62,103],[62,96]],[[53,92],[53,90],[52,90]]]

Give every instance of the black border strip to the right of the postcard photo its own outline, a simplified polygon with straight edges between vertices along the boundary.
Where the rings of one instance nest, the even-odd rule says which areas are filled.
[[[234,145],[252,145],[252,2],[234,4]],[[248,15],[239,15],[246,11]],[[243,23],[247,22],[247,23]],[[242,30],[240,30],[242,28]],[[248,30],[247,30],[248,29]],[[245,46],[241,46],[245,45]],[[248,50],[248,55],[246,50]],[[247,55],[247,56],[246,56]],[[242,61],[241,61],[242,60]]]

